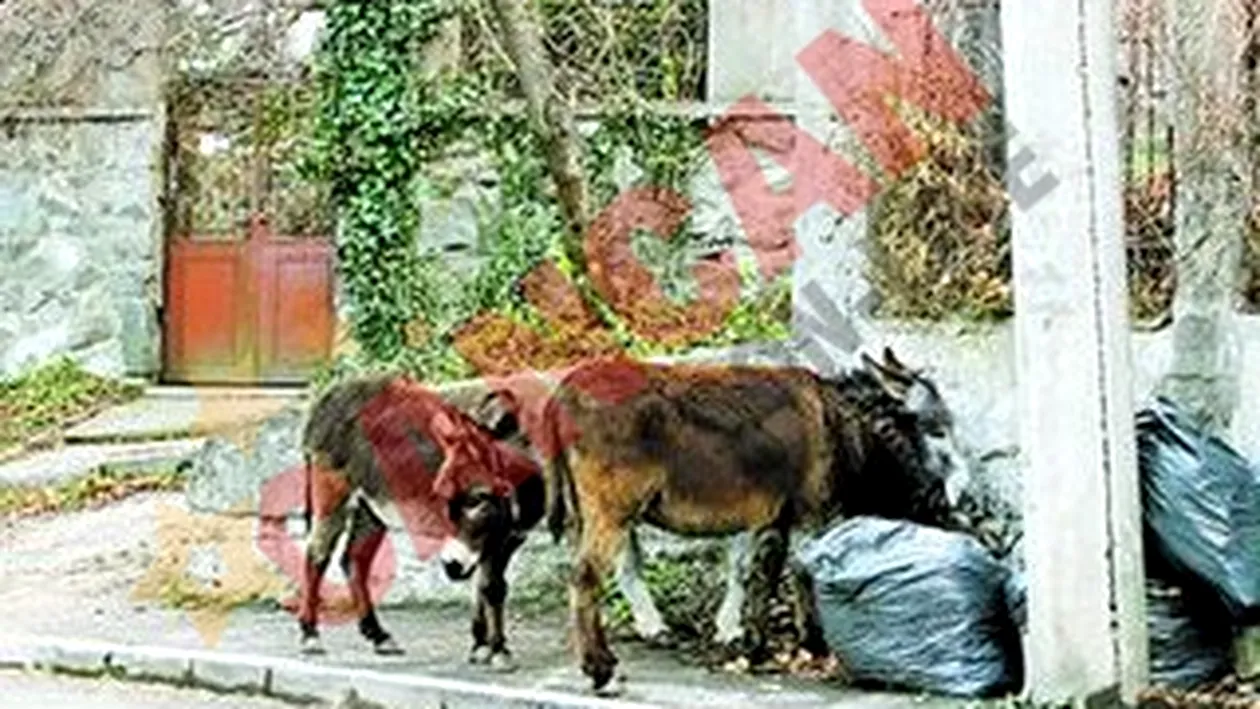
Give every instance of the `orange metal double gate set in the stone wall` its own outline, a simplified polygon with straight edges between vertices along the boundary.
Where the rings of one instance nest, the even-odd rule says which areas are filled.
[[[312,96],[273,78],[174,88],[164,379],[302,383],[331,355],[331,222],[285,127]]]

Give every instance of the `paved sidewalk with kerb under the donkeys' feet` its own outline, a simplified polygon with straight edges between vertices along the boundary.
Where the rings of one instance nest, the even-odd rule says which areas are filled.
[[[0,524],[0,548],[5,549],[0,554],[0,665],[43,660],[100,669],[112,662],[129,672],[188,675],[227,689],[265,685],[334,703],[355,688],[387,706],[437,706],[440,701],[447,706],[629,703],[721,709],[963,705],[781,676],[717,674],[669,651],[620,641],[615,642],[619,669],[627,676],[619,698],[622,704],[592,703],[564,644],[563,602],[552,611],[532,611],[512,596],[508,637],[519,669],[507,675],[464,661],[470,642],[466,606],[383,610],[382,622],[407,651],[398,657],[373,655],[353,625],[325,628],[328,655],[300,657],[292,616],[270,607],[233,611],[218,641],[208,647],[189,615],[132,597],[160,552],[156,510],[179,500],[171,494],[142,495],[100,510]],[[32,645],[30,638],[38,642]]]

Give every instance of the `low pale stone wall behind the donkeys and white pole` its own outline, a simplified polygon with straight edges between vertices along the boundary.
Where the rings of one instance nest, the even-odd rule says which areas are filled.
[[[1244,363],[1241,395],[1246,400],[1260,395],[1260,316],[1239,316],[1237,325],[1241,335],[1239,361]],[[984,501],[990,515],[988,523],[1000,543],[1012,548],[1012,562],[1021,565],[1018,542],[1023,501],[1014,418],[1017,382],[1012,324],[965,327],[877,321],[863,331],[863,346],[871,351],[892,346],[908,365],[926,368],[939,384],[955,413],[956,432],[973,465],[970,492]],[[750,351],[751,355],[746,354]],[[1169,365],[1172,330],[1134,334],[1131,353],[1134,404],[1142,408],[1150,403],[1154,385]],[[1246,356],[1249,353],[1257,356]],[[784,363],[795,358],[785,345],[769,344],[740,351],[696,351],[685,359]],[[848,360],[839,364],[848,364]],[[465,409],[483,392],[479,382],[441,387],[440,390],[454,406]],[[200,513],[255,513],[263,482],[300,463],[297,445],[302,419],[302,406],[295,406],[263,424],[246,443],[241,440],[209,441],[190,474],[189,502],[193,508]],[[1260,460],[1260,411],[1240,408],[1227,442],[1247,458]],[[398,579],[388,602],[447,601],[466,593],[464,587],[445,582],[435,564],[415,555],[404,530],[393,530],[392,536],[398,553]],[[524,559],[513,565],[514,578],[544,583],[563,563],[563,553],[557,552],[541,531],[538,536],[527,548]],[[649,553],[690,544],[670,535],[645,533]]]

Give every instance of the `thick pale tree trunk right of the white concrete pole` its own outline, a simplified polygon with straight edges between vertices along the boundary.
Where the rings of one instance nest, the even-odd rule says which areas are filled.
[[[1250,193],[1244,0],[1164,0],[1177,174],[1173,360],[1160,394],[1215,433],[1237,406],[1232,327]]]

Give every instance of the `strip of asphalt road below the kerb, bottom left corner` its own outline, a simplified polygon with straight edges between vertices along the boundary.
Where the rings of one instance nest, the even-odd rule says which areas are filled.
[[[0,708],[91,709],[292,709],[273,699],[176,689],[160,684],[120,683],[62,675],[0,671]]]

